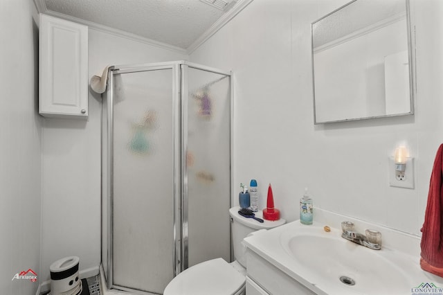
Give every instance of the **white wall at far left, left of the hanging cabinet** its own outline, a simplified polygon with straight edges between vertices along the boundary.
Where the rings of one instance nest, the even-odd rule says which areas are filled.
[[[37,10],[0,1],[0,294],[35,294],[40,281],[41,125]],[[33,269],[37,282],[12,280]]]

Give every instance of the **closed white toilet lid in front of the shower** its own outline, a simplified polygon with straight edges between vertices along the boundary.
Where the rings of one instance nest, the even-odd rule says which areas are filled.
[[[221,258],[201,262],[181,272],[166,286],[164,295],[235,294],[245,277]]]

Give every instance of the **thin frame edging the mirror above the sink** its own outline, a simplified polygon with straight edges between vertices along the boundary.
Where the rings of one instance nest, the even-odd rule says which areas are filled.
[[[414,114],[414,100],[415,100],[415,24],[413,24],[413,17],[410,10],[410,0],[404,0],[406,6],[406,35],[408,37],[408,62],[409,62],[409,93],[410,93],[410,111],[406,113],[400,114],[385,114],[380,116],[368,116],[368,117],[359,117],[359,118],[344,118],[341,120],[325,120],[318,121],[316,117],[316,91],[315,91],[315,74],[314,74],[314,24],[318,21],[325,19],[329,15],[341,10],[347,6],[350,6],[352,3],[358,0],[352,0],[349,3],[337,8],[336,10],[329,12],[327,15],[320,17],[320,19],[316,19],[316,21],[311,22],[311,70],[312,70],[312,98],[313,98],[313,108],[314,108],[314,125],[326,124],[326,123],[337,123],[337,122],[347,122],[347,121],[355,121],[355,120],[368,120],[374,118],[386,118],[386,117],[395,117],[395,116],[408,116]]]

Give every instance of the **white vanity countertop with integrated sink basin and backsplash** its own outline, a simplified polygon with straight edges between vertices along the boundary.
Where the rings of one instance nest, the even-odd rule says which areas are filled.
[[[358,232],[380,231],[381,249],[368,249],[341,238],[344,220],[354,222]],[[330,232],[323,230],[325,225],[330,226]],[[246,271],[251,271],[251,278],[260,285],[274,288],[268,292],[271,294],[289,294],[285,293],[289,289],[297,289],[291,294],[411,294],[422,283],[443,287],[443,278],[420,268],[419,243],[415,235],[317,208],[312,225],[297,220],[245,238],[244,244],[251,253],[248,261],[264,261],[248,266]],[[260,271],[254,271],[266,267],[266,263],[274,267],[269,271],[277,269],[283,275],[260,275]],[[284,289],[289,278],[292,287]]]

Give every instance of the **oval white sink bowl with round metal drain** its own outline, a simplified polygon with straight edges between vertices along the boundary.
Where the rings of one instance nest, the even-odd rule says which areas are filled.
[[[410,285],[407,274],[391,259],[392,251],[368,249],[340,235],[336,229],[325,232],[319,226],[305,227],[281,233],[280,244],[303,269],[305,278],[321,285],[354,294],[390,294],[392,286]]]

